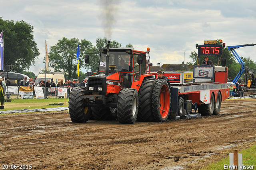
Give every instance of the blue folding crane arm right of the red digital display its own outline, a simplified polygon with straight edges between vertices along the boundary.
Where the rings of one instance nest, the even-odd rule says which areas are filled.
[[[244,62],[242,58],[237,54],[235,49],[240,47],[255,46],[255,45],[256,44],[243,44],[243,45],[237,45],[237,46],[228,46],[228,50],[230,50],[234,54],[234,56],[236,57],[236,60],[238,60],[239,64],[241,65],[241,69],[236,75],[236,78],[234,78],[233,83],[236,83],[238,81],[238,79],[242,76],[245,70]]]

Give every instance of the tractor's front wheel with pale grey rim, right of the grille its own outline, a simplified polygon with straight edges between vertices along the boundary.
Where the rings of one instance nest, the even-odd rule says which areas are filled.
[[[134,88],[122,88],[117,99],[117,119],[122,124],[134,124],[138,115],[138,92]]]

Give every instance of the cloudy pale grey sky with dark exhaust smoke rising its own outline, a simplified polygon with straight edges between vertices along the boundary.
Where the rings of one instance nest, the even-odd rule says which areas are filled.
[[[137,50],[150,47],[153,65],[190,61],[195,44],[222,39],[227,46],[256,43],[255,0],[0,0],[4,20],[24,20],[34,26],[40,56],[29,71],[45,66],[48,48],[62,37],[107,37],[131,43]],[[256,61],[256,46],[236,50]],[[80,69],[86,72],[84,69]]]

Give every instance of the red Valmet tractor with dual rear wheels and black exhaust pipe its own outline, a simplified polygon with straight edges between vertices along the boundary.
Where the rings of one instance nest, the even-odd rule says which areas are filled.
[[[165,122],[170,112],[170,86],[147,72],[147,52],[133,48],[102,48],[98,74],[88,86],[72,88],[69,114],[73,122],[115,120],[122,124]],[[86,63],[89,56],[86,55]]]

